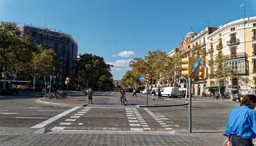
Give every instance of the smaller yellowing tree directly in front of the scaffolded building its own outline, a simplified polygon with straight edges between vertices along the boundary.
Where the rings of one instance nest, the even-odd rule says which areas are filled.
[[[35,91],[35,80],[42,76],[49,76],[56,63],[56,53],[52,49],[45,50],[42,45],[36,45],[36,52],[32,53],[32,59],[26,64],[25,70],[33,77],[33,90]]]

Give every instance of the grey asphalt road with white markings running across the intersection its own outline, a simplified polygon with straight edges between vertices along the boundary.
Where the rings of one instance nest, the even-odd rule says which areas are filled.
[[[31,95],[1,95],[0,127],[33,127],[62,114],[57,119],[50,120],[51,122],[43,127],[49,129],[65,127],[65,130],[110,131],[188,130],[188,105],[146,109],[134,107],[133,109],[130,107],[130,109],[125,109],[128,108],[125,106],[117,108],[115,105],[110,105],[111,107],[88,105],[87,107],[77,107],[67,113],[68,110],[74,107],[37,103],[36,100],[42,95],[43,93],[40,92]],[[119,98],[119,95],[112,94],[112,92],[95,92],[95,95]],[[127,97],[131,95],[131,93],[127,93]],[[146,96],[140,93],[137,93],[137,95]],[[227,100],[192,100],[192,130],[225,131],[229,111],[238,106],[239,103]],[[79,116],[79,118],[70,118],[71,116]],[[75,120],[72,121],[72,119]],[[165,124],[160,124],[159,121],[163,121]]]

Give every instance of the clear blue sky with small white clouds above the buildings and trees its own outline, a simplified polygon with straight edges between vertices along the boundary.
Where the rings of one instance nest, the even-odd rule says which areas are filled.
[[[246,16],[256,16],[255,0],[0,0],[0,20],[44,26],[46,16],[46,27],[71,32],[78,53],[102,56],[120,80],[129,60],[158,48],[169,53],[207,18],[211,27],[243,18],[242,3]]]

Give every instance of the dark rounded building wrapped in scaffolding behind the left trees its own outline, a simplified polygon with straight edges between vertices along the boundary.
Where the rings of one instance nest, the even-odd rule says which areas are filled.
[[[55,76],[60,81],[60,71],[62,62],[61,81],[64,82],[66,77],[75,81],[75,70],[71,70],[72,62],[76,60],[78,43],[74,37],[63,31],[57,31],[49,28],[34,26],[32,24],[23,24],[19,26],[22,35],[29,35],[33,38],[33,43],[42,45],[45,49],[53,49],[57,55],[59,66],[55,68]]]

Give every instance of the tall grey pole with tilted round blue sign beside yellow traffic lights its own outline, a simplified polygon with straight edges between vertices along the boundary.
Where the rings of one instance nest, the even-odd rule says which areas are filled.
[[[192,72],[190,76],[188,77],[188,131],[189,133],[192,133],[192,93],[191,93],[191,80],[192,80],[192,74],[195,72],[195,70],[198,68],[199,64],[201,62],[201,58],[198,58],[196,63],[194,64],[194,67],[192,69]]]

